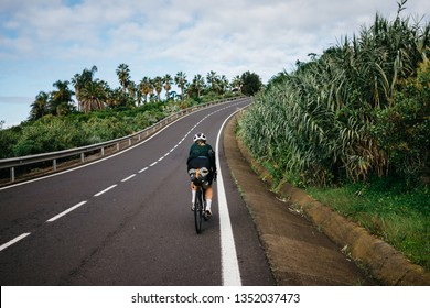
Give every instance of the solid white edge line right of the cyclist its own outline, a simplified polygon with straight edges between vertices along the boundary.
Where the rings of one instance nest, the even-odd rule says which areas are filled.
[[[237,111],[236,111],[237,112]],[[227,120],[235,114],[232,113],[225,119],[216,138],[216,161],[219,164],[219,138]],[[219,211],[219,231],[221,231],[221,271],[224,286],[241,286],[239,263],[237,261],[235,239],[230,217],[228,215],[227,198],[224,190],[224,180],[221,167],[217,168],[217,191],[218,191],[218,211]]]

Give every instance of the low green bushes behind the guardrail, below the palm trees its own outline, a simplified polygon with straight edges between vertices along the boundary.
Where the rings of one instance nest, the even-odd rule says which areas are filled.
[[[61,151],[118,139],[160,121],[179,110],[161,102],[68,116],[44,116],[0,130],[0,158]]]

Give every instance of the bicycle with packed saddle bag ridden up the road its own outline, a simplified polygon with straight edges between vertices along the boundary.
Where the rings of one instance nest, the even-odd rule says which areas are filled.
[[[209,170],[205,167],[203,168],[192,168],[189,170],[190,178],[197,188],[194,199],[194,224],[195,231],[197,234],[202,232],[202,221],[207,221],[206,216],[206,200],[205,200],[205,186],[207,187],[207,175]]]

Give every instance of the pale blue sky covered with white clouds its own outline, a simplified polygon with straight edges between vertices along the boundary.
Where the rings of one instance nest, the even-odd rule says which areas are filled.
[[[136,82],[211,70],[232,80],[249,70],[266,84],[358,34],[376,13],[394,19],[397,8],[396,0],[1,0],[0,124],[24,121],[40,91],[94,65],[111,88],[122,63]],[[406,8],[404,15],[429,21],[430,1]]]

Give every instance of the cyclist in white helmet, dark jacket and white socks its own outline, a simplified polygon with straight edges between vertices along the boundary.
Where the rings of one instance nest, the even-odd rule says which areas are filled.
[[[215,151],[212,148],[211,144],[206,143],[206,135],[204,133],[196,133],[193,138],[194,143],[190,147],[189,158],[186,160],[187,170],[194,168],[206,167],[209,173],[207,175],[207,185],[205,186],[205,198],[206,198],[206,216],[212,216],[211,205],[212,205],[212,182],[216,177],[216,162],[215,162]],[[194,210],[194,199],[196,194],[196,187],[193,182],[191,182],[191,210]]]

